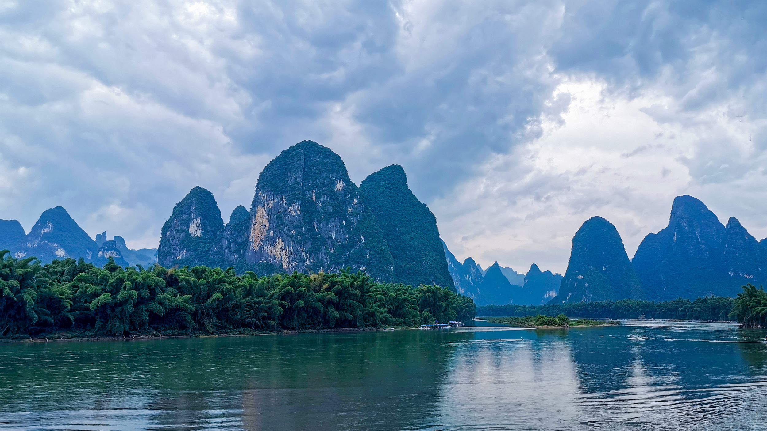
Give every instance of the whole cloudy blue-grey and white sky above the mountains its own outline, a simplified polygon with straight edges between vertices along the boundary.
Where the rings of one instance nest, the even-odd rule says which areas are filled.
[[[767,2],[0,0],[0,218],[62,205],[156,247],[311,139],[398,163],[453,253],[563,273],[594,215],[629,256],[692,194],[767,237]]]

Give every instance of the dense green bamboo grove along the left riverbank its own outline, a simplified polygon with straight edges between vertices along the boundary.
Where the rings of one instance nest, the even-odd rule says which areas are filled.
[[[470,322],[472,299],[364,273],[237,276],[206,266],[16,260],[0,251],[0,337],[191,335]]]

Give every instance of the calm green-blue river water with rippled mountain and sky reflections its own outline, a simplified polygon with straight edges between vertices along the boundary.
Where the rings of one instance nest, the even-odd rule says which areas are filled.
[[[767,429],[767,331],[481,326],[0,345],[0,429]]]

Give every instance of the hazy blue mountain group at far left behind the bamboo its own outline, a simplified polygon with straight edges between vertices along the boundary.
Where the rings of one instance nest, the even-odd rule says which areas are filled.
[[[122,237],[107,240],[106,232],[91,239],[63,207],[44,211],[29,233],[18,220],[0,220],[0,250],[10,250],[18,259],[35,256],[42,263],[67,257],[82,257],[98,266],[104,266],[110,257],[122,266],[156,262],[156,249],[130,250]]]

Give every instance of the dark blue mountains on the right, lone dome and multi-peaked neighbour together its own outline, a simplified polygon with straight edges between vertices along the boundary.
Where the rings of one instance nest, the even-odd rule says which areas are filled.
[[[757,241],[735,217],[723,225],[688,195],[674,199],[668,226],[647,234],[633,260],[615,227],[601,217],[586,220],[572,243],[551,303],[735,296],[746,283],[767,282],[767,240]]]

